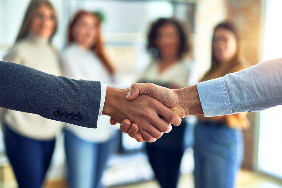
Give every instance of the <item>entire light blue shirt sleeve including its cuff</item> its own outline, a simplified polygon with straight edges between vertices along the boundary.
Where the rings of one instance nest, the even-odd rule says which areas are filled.
[[[197,84],[205,117],[254,112],[282,104],[282,58]]]

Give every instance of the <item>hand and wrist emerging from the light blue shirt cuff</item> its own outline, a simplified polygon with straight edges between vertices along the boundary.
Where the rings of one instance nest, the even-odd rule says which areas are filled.
[[[158,99],[181,118],[188,115],[203,115],[196,85],[171,90],[152,83],[135,83],[131,85],[126,99],[133,100],[140,94],[146,94]],[[114,123],[113,119],[111,119],[111,121]],[[125,124],[127,125],[128,123],[131,126],[125,126]],[[120,129],[123,133],[128,133],[129,136],[135,138],[138,142],[146,141],[146,138],[143,137],[142,133],[138,133],[138,126],[136,123],[131,124],[129,120],[124,120]]]

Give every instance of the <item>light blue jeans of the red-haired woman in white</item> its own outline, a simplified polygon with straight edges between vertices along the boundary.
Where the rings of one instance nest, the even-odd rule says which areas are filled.
[[[65,153],[70,188],[102,187],[105,165],[112,154],[113,139],[104,143],[87,142],[68,130],[65,132]]]

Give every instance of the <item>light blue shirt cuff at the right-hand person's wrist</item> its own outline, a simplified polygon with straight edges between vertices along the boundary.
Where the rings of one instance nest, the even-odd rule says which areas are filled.
[[[223,77],[200,82],[197,89],[205,117],[232,113]]]

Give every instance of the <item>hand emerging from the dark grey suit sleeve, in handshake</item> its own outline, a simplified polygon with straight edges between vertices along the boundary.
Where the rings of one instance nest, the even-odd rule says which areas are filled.
[[[163,133],[170,132],[170,123],[175,125],[181,123],[179,116],[157,99],[148,95],[140,95],[136,100],[128,101],[125,99],[128,92],[129,89],[107,87],[102,114],[111,116],[118,123],[121,123],[123,119],[128,119],[130,124],[136,123],[138,125],[136,129],[148,142],[154,142]],[[160,118],[159,115],[170,123]]]

